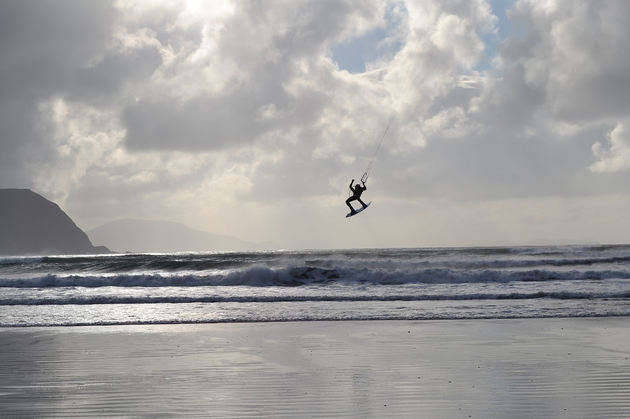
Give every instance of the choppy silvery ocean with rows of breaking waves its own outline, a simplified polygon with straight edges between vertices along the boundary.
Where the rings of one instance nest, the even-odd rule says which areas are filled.
[[[0,327],[630,316],[630,245],[0,257]]]

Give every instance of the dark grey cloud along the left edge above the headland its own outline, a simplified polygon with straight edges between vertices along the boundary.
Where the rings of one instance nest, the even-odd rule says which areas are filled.
[[[0,2],[0,187],[31,186],[30,165],[50,153],[38,104],[73,88],[114,17],[105,2]]]

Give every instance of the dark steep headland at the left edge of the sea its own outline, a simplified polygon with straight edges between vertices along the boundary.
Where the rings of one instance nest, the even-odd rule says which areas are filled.
[[[110,253],[95,247],[59,205],[30,189],[0,189],[0,255]]]

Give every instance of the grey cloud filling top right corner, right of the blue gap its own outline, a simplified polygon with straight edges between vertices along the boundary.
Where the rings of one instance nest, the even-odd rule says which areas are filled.
[[[525,69],[529,86],[544,89],[559,120],[610,121],[630,113],[627,1],[520,1],[508,16],[520,31],[501,45],[501,57]]]

